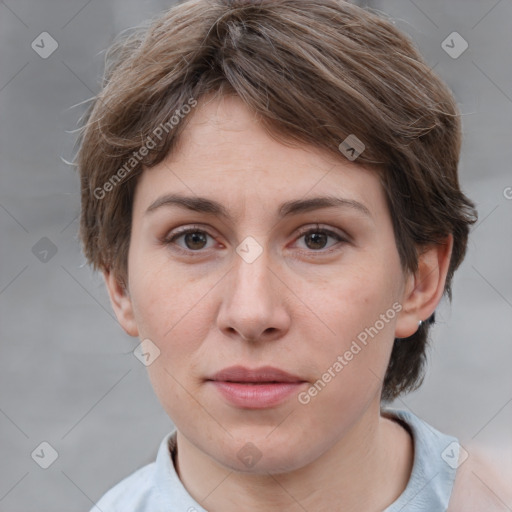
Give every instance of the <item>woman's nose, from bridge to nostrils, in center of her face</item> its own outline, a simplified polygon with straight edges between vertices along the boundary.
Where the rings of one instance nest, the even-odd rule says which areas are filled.
[[[235,255],[217,317],[218,327],[226,336],[257,342],[276,340],[288,332],[286,296],[291,291],[269,263],[267,251],[251,263]]]

